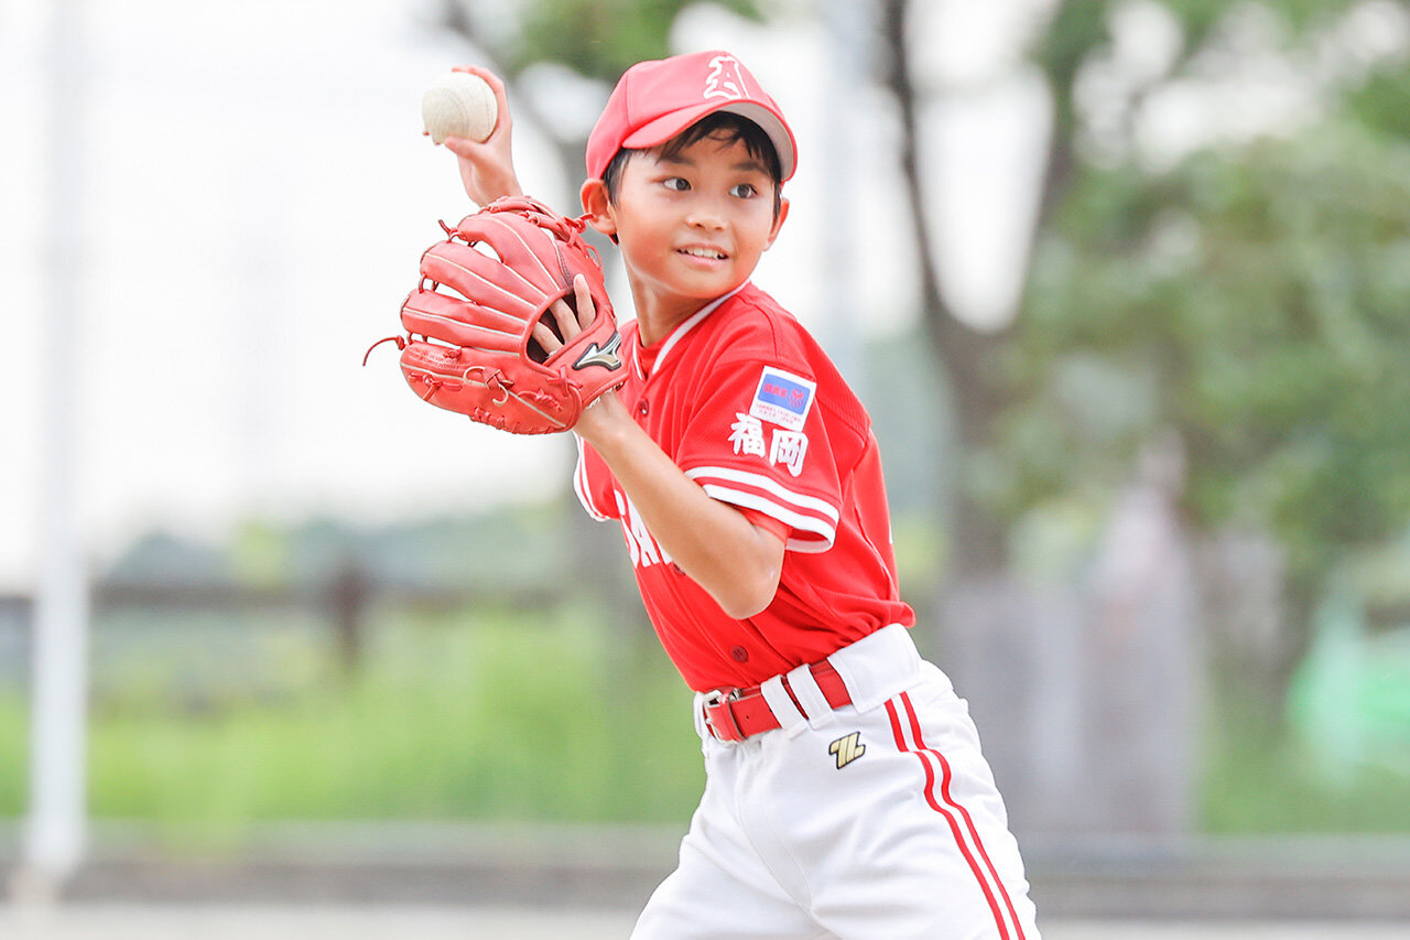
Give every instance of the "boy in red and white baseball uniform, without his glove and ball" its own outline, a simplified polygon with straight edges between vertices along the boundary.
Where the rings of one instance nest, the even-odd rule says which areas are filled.
[[[519,183],[503,86],[478,72],[499,126],[447,144],[485,203]],[[620,247],[636,320],[625,387],[574,429],[574,483],[622,524],[706,768],[633,936],[1035,940],[966,703],[908,632],[867,412],[750,282],[795,161],[777,103],[718,51],[629,69],[588,140],[582,206]]]

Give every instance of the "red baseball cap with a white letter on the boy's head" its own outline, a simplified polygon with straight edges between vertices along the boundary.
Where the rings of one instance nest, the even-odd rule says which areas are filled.
[[[721,49],[637,62],[623,72],[588,135],[588,176],[601,179],[623,147],[658,147],[715,112],[759,124],[778,151],[783,178],[792,176],[798,147],[784,113],[744,64]]]

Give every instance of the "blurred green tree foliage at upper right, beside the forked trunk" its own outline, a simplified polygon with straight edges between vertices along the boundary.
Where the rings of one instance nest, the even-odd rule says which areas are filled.
[[[980,505],[1000,526],[1117,491],[1173,430],[1191,528],[1277,542],[1286,635],[1234,663],[1268,720],[1327,579],[1410,521],[1410,69],[1403,40],[1375,55],[1365,34],[1368,17],[1404,28],[1404,6],[1292,0],[1249,21],[1246,4],[1160,4],[1180,52],[1100,134],[1081,90],[1112,58],[1118,4],[1059,7],[1034,54],[1056,133],[1026,299],[966,374],[986,390],[970,435],[1007,469]],[[1142,145],[1145,104],[1234,80],[1249,30],[1307,78],[1311,114],[1184,155]]]

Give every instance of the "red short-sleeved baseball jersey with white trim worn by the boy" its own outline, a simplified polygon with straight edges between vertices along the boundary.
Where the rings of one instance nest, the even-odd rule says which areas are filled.
[[[685,476],[785,539],[773,603],[749,620],[671,563],[606,463],[578,439],[574,488],[619,519],[667,655],[697,692],[747,687],[885,627],[915,622],[897,590],[871,421],[832,360],[773,298],[744,284],[643,347],[620,391]]]

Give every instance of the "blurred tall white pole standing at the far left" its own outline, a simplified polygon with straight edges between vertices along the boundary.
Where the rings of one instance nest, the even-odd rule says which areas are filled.
[[[45,220],[47,285],[44,491],[39,502],[44,546],[34,608],[34,675],[30,735],[30,816],[21,882],[31,895],[54,895],[73,874],[86,848],[87,740],[87,570],[80,531],[78,470],[82,388],[73,368],[83,336],[79,316],[83,216],[79,181],[83,49],[82,0],[51,4],[49,174]]]

